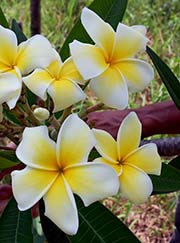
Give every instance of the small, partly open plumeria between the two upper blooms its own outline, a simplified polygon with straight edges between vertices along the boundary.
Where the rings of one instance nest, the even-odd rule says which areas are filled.
[[[84,79],[74,65],[72,58],[62,63],[56,53],[56,60],[45,69],[36,69],[23,79],[26,86],[41,99],[47,99],[47,93],[54,102],[54,111],[64,110],[67,107],[84,100],[86,95],[78,86],[84,84]]]

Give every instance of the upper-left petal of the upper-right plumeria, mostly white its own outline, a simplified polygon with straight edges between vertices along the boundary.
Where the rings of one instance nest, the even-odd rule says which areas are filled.
[[[113,28],[88,8],[82,10],[81,22],[91,39],[102,48],[105,56],[111,57],[115,39]]]

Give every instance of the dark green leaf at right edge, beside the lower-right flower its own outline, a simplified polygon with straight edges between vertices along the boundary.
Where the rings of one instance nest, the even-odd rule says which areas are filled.
[[[178,158],[179,163],[180,159]],[[177,163],[177,161],[176,161]],[[172,163],[173,164],[173,163]],[[162,164],[160,176],[150,176],[153,183],[153,194],[163,194],[180,190],[180,170],[171,165],[171,162]]]

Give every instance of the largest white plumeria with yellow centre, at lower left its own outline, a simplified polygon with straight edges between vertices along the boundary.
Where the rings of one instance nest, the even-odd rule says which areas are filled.
[[[57,143],[46,126],[25,128],[16,154],[27,167],[12,172],[18,208],[29,209],[43,197],[45,215],[65,233],[75,234],[79,223],[73,193],[88,206],[119,189],[114,169],[87,162],[94,144],[92,131],[76,114],[64,121]]]

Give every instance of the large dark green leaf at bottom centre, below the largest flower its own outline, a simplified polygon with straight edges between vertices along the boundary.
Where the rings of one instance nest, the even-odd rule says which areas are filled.
[[[79,230],[71,236],[72,243],[98,242],[140,242],[136,236],[107,208],[96,202],[84,207],[80,199],[76,200],[79,213]]]

